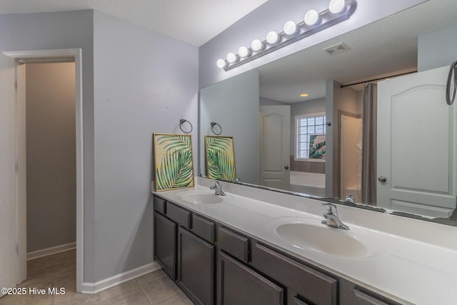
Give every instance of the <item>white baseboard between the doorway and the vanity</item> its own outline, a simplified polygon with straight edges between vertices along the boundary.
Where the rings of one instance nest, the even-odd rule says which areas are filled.
[[[111,287],[122,284],[125,281],[130,281],[131,279],[135,279],[136,277],[142,276],[144,274],[149,274],[149,272],[156,271],[159,269],[161,269],[161,266],[154,262],[146,264],[144,266],[140,266],[130,271],[123,272],[121,274],[116,274],[115,276],[111,276],[108,279],[102,279],[101,281],[97,281],[96,283],[84,282],[83,287],[81,289],[81,293],[97,294],[100,291],[109,289]]]

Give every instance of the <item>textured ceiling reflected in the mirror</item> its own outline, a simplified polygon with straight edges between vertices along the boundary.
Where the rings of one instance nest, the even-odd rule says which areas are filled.
[[[326,79],[352,84],[415,71],[418,36],[456,24],[456,0],[426,1],[262,66],[260,94],[294,103],[325,97]],[[350,50],[333,56],[322,51],[340,42]],[[354,89],[361,90],[363,85]],[[309,96],[302,98],[301,93]]]

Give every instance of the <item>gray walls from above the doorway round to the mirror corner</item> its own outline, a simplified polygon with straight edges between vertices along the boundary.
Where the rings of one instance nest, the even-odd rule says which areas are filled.
[[[198,48],[97,11],[0,15],[0,51],[81,48],[84,282],[152,259],[153,132],[194,124]],[[96,64],[94,64],[96,63]]]

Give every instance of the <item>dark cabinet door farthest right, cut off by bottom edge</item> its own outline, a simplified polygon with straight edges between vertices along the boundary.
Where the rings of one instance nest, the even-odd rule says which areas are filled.
[[[283,304],[283,289],[219,251],[218,304]]]

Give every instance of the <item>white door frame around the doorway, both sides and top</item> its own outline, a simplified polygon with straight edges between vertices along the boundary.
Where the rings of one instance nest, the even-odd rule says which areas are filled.
[[[16,146],[11,148],[16,155],[16,251],[17,282],[26,278],[26,112],[24,64],[74,61],[75,81],[75,154],[76,154],[76,291],[81,291],[84,281],[84,141],[82,120],[82,65],[81,49],[55,49],[39,51],[4,52],[15,61],[16,68]],[[49,221],[49,219],[48,219]]]

